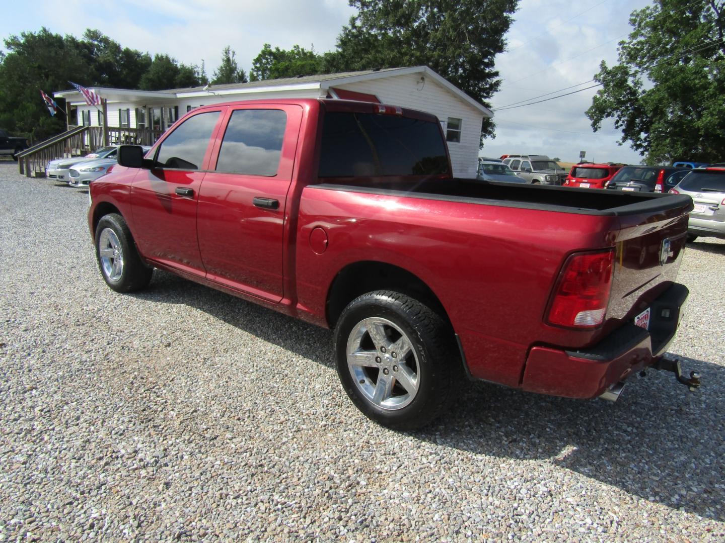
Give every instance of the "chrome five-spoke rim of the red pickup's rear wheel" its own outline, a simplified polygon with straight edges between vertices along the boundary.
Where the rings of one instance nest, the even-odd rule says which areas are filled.
[[[347,369],[357,390],[378,408],[402,409],[418,394],[418,355],[405,332],[388,319],[371,317],[352,327]]]

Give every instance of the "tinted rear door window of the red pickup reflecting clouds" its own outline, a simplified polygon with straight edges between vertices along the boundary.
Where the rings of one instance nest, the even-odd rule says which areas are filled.
[[[218,172],[277,174],[287,114],[281,109],[237,109],[229,125],[217,161]]]

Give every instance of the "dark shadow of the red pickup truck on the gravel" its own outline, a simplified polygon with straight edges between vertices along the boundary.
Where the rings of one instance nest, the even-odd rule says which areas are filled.
[[[149,290],[136,297],[198,308],[334,367],[328,330],[155,273]],[[645,500],[725,521],[725,392],[720,384],[725,367],[687,360],[684,369],[700,371],[702,390],[689,392],[673,374],[649,371],[630,379],[614,404],[472,384],[441,421],[411,435],[477,455],[551,463]]]

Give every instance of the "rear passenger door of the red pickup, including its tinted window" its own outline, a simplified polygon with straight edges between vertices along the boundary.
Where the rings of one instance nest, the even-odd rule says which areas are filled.
[[[207,279],[282,299],[284,217],[301,122],[294,104],[229,109],[199,193]]]

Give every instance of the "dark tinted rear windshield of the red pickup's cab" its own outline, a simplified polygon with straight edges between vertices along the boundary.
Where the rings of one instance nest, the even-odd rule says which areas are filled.
[[[446,149],[436,122],[341,111],[325,115],[320,177],[447,172]]]

